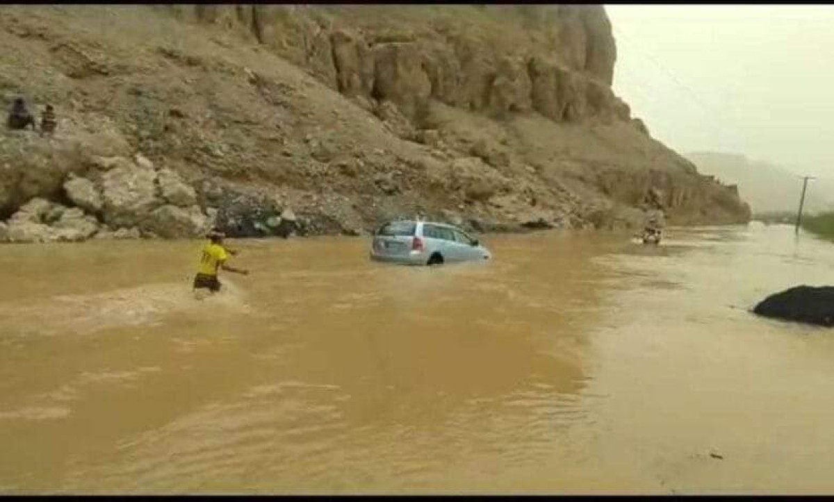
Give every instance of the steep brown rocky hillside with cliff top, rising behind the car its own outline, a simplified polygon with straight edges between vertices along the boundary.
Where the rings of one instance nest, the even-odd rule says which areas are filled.
[[[5,6],[0,49],[58,113],[0,133],[5,240],[750,216],[611,92],[599,6]]]

